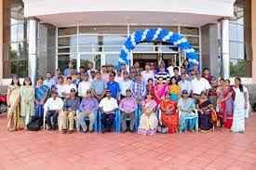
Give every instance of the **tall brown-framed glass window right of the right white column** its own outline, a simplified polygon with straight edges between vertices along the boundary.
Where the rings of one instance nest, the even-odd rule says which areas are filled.
[[[251,52],[246,46],[251,44],[251,13],[250,0],[236,1],[235,17],[229,21],[229,38],[230,38],[230,76],[251,76]]]

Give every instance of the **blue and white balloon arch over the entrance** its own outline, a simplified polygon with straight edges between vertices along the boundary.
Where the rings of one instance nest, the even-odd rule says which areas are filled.
[[[129,64],[130,53],[136,47],[136,45],[143,42],[165,42],[169,45],[178,46],[186,54],[186,59],[189,62],[189,69],[195,64],[199,63],[198,54],[195,53],[195,49],[187,41],[187,39],[180,33],[172,33],[168,30],[161,28],[138,30],[130,34],[121,49],[118,59],[119,65]]]

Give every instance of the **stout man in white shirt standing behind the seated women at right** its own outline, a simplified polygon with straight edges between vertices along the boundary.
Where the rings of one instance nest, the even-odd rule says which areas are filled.
[[[191,81],[193,98],[198,99],[203,91],[205,91],[208,96],[210,87],[209,81],[201,77],[200,72],[196,72],[195,79]]]

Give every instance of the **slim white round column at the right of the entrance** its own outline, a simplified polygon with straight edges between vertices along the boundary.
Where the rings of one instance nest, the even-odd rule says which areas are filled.
[[[223,78],[229,78],[229,20],[221,20],[222,27],[222,73]]]

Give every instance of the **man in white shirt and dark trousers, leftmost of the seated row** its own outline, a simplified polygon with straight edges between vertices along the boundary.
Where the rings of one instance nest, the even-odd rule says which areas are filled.
[[[63,101],[58,97],[56,90],[51,91],[51,98],[47,99],[44,109],[46,111],[47,130],[56,130],[58,124],[58,115],[63,107]]]

